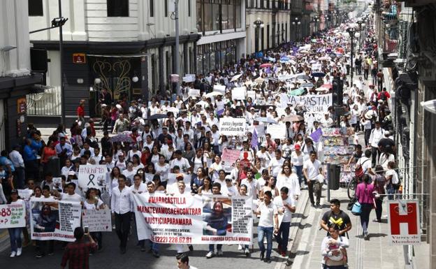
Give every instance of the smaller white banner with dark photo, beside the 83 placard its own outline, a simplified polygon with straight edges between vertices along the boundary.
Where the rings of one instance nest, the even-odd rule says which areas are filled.
[[[80,226],[81,208],[78,202],[31,200],[31,239],[73,242],[74,229]]]

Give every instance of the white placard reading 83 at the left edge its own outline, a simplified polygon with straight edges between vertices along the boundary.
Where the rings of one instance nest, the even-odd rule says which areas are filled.
[[[0,229],[26,226],[26,206],[24,203],[0,205]]]

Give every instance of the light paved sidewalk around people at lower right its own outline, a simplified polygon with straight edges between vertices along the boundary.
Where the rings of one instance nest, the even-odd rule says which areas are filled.
[[[326,190],[323,190],[323,195]],[[349,231],[350,245],[347,249],[349,268],[353,269],[399,269],[405,268],[404,252],[402,246],[391,246],[388,244],[388,224],[387,220],[382,218],[383,223],[373,222],[375,211],[372,210],[370,215],[370,224],[368,232],[370,240],[365,241],[362,237],[362,228],[360,218],[351,215],[347,210],[348,196],[346,189],[330,191],[331,198],[338,198],[341,201],[341,209],[347,212],[351,218],[352,228]],[[293,249],[296,258],[293,260],[290,268],[320,269],[321,268],[321,242],[326,236],[324,230],[319,230],[319,223],[324,212],[330,210],[330,204],[327,198],[321,198],[322,209],[310,208],[310,214],[307,216],[308,223],[312,224],[303,229],[300,244]],[[386,215],[386,204],[383,205],[383,216]]]

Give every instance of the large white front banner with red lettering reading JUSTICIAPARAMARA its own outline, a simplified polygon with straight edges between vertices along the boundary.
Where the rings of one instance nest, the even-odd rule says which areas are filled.
[[[251,244],[252,196],[135,194],[138,240]]]

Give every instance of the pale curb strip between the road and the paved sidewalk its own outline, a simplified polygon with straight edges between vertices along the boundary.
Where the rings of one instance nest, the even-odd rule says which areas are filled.
[[[304,212],[306,210],[308,201],[309,201],[308,191],[307,190],[302,191],[301,195],[298,199],[296,212],[293,213],[293,214],[299,214],[299,215],[298,215],[298,217],[295,217],[295,218],[293,217],[292,222],[291,222],[291,224],[296,223],[298,225],[293,225],[289,229],[289,239],[292,239],[292,240],[289,240],[289,243],[288,243],[288,249],[287,249],[288,254],[291,254],[291,249],[292,249],[294,243],[298,244],[298,242],[296,242],[297,233],[299,233],[300,231],[303,231],[305,223],[303,224],[302,220],[303,220]],[[302,225],[303,225],[303,227],[302,227]],[[274,269],[286,269],[286,267],[289,267],[291,265],[292,259],[293,259],[292,256],[286,256],[286,257],[279,256],[278,261],[276,262]]]

